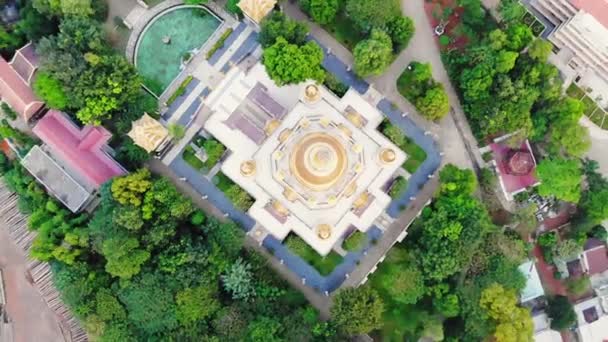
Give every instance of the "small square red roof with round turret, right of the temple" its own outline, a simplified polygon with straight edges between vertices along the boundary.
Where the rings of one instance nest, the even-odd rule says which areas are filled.
[[[532,155],[532,151],[530,150],[527,141],[521,145],[518,152],[520,154],[529,154],[533,165],[531,167],[528,165],[527,168],[529,169],[529,173],[522,175],[515,175],[509,172],[509,162],[511,161],[511,156],[513,156],[513,149],[501,143],[490,144],[490,148],[494,152],[494,159],[496,160],[499,177],[508,193],[515,193],[538,183],[538,180],[534,177],[536,162],[534,161],[534,156]]]

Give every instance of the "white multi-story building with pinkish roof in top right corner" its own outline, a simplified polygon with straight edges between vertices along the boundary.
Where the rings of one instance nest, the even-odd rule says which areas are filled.
[[[528,7],[546,24],[554,45],[550,61],[566,80],[584,88],[608,107],[608,1],[529,0]]]

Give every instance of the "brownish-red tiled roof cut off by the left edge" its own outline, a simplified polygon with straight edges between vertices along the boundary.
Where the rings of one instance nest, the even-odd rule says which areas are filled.
[[[34,48],[28,44],[8,63],[0,57],[0,98],[28,121],[44,103],[36,98],[30,81],[37,66]]]

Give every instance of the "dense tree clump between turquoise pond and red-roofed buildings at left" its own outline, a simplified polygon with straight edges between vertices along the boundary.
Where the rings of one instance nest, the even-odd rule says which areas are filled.
[[[112,52],[94,20],[69,17],[60,32],[38,46],[41,71],[69,100],[83,123],[99,124],[139,96],[139,77],[127,60]],[[48,79],[47,79],[48,81]],[[40,85],[39,85],[40,86]],[[46,94],[57,97],[59,91]]]

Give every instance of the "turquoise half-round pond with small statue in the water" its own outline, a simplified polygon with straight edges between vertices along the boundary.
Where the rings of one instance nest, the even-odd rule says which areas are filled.
[[[139,38],[135,65],[144,85],[160,95],[180,72],[182,59],[200,48],[221,22],[206,8],[179,6],[160,13]]]

